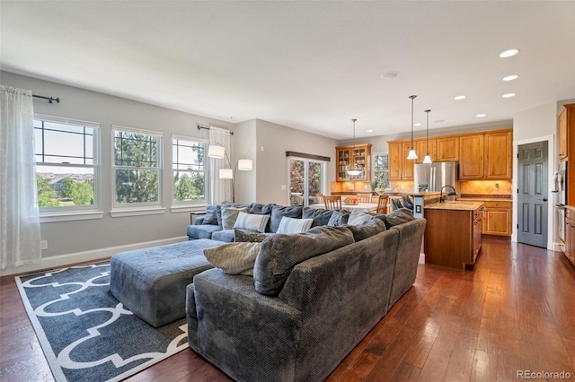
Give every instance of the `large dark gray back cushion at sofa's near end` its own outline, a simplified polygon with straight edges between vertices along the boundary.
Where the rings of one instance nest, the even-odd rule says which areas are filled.
[[[261,243],[253,268],[255,290],[277,296],[294,266],[353,242],[353,234],[346,227],[314,227],[295,235],[270,235]]]

